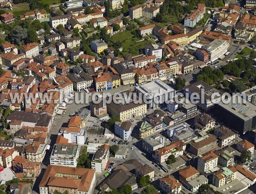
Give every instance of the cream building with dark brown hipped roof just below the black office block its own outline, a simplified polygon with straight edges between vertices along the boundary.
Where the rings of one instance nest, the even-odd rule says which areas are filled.
[[[236,133],[224,126],[215,128],[214,135],[218,137],[218,145],[221,148],[230,145],[236,139]]]

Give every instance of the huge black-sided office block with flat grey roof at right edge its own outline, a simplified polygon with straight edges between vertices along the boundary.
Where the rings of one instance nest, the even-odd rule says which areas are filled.
[[[227,127],[233,128],[241,134],[256,129],[256,106],[250,102],[242,104],[243,99],[237,95],[227,100],[230,101],[229,104],[223,102],[217,104],[218,118],[226,123]]]

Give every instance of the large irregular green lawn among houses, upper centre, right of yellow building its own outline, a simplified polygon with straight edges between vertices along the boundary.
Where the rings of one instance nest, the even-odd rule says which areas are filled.
[[[114,42],[120,41],[122,44],[122,53],[123,54],[131,54],[131,56],[136,56],[140,54],[140,49],[144,48],[145,45],[150,44],[149,41],[141,41],[137,42],[140,39],[137,37],[133,37],[134,35],[131,34],[131,31],[125,30],[122,31],[121,33],[115,34],[111,38],[113,39]]]

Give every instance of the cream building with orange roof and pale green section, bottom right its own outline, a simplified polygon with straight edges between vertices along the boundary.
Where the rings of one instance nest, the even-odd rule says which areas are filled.
[[[216,187],[224,186],[236,179],[236,168],[234,166],[223,167],[213,174],[212,184]]]

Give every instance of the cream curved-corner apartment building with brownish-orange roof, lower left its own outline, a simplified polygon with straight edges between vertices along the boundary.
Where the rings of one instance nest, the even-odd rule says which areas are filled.
[[[25,155],[29,162],[42,162],[46,153],[46,144],[36,141],[29,144],[26,148]]]

